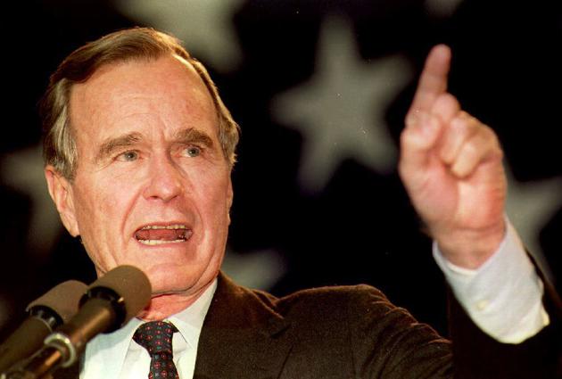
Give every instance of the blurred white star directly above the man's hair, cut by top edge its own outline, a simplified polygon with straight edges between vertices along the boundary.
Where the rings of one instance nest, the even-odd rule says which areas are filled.
[[[243,0],[117,0],[128,17],[180,38],[187,50],[213,68],[236,69],[242,53],[233,16]]]

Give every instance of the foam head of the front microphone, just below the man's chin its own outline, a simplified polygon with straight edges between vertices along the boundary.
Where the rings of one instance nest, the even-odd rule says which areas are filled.
[[[109,290],[109,291],[108,291]],[[115,327],[128,323],[150,302],[152,287],[143,271],[133,266],[119,266],[90,284],[80,303],[92,297],[117,295],[112,301],[120,308]],[[112,297],[112,296],[111,296]]]

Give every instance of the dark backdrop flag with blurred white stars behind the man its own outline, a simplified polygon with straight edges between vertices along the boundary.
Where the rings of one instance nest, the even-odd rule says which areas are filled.
[[[224,269],[283,294],[373,284],[446,333],[430,241],[396,172],[398,138],[426,53],[453,51],[450,92],[500,136],[508,217],[562,277],[562,4],[538,0],[115,0],[9,4],[0,327],[69,277],[91,281],[42,174],[35,104],[88,40],[133,25],[175,34],[204,62],[242,127]],[[17,33],[25,29],[24,34]],[[33,48],[29,49],[29,45]],[[16,267],[17,269],[13,269]],[[13,283],[25,281],[27,286]],[[428,295],[430,294],[430,295]],[[11,321],[15,320],[15,321]]]

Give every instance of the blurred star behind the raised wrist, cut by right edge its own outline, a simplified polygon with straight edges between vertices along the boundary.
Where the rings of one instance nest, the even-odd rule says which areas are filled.
[[[547,276],[552,276],[539,243],[543,227],[562,205],[562,177],[529,183],[518,182],[509,169],[507,213],[523,243],[537,259]]]

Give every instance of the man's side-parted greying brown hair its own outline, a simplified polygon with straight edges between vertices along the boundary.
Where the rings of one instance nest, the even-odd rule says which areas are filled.
[[[43,120],[43,158],[62,177],[74,178],[78,167],[78,152],[70,125],[70,91],[77,83],[84,83],[101,67],[140,60],[156,60],[177,55],[189,62],[209,90],[219,117],[219,142],[230,167],[236,161],[239,128],[219,96],[219,91],[201,62],[194,59],[176,37],[150,28],[124,29],[72,52],[51,76],[49,86],[40,103]]]

